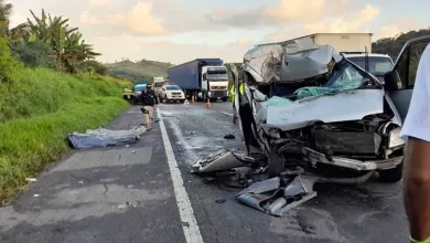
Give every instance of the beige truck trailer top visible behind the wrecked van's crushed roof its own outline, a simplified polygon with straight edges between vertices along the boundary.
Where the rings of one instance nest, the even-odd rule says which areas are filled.
[[[337,52],[368,52],[372,53],[373,33],[314,33],[294,38],[278,43],[261,45],[286,44],[287,47],[299,49],[310,45],[331,45]]]

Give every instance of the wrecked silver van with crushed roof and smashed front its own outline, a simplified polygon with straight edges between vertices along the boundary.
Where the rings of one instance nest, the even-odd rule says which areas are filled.
[[[405,147],[399,131],[429,42],[430,36],[407,42],[385,84],[330,46],[249,51],[245,95],[235,96],[233,110],[248,154],[268,157],[269,177],[301,168],[356,181],[377,171],[381,181],[399,181]],[[232,72],[237,89],[235,65]]]

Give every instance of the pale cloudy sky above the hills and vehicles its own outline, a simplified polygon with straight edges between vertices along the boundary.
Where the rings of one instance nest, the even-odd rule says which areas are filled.
[[[373,41],[430,27],[428,0],[10,0],[12,25],[69,19],[100,62],[197,57],[240,62],[255,44],[318,32],[370,32]]]

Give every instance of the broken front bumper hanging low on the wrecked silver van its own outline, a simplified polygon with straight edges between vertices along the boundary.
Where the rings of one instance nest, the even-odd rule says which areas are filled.
[[[400,156],[390,159],[362,161],[357,159],[348,159],[342,157],[329,157],[322,152],[315,151],[310,148],[303,148],[302,154],[303,159],[307,162],[310,162],[313,167],[315,167],[316,163],[325,163],[358,171],[393,169],[400,165],[404,160],[404,157]]]

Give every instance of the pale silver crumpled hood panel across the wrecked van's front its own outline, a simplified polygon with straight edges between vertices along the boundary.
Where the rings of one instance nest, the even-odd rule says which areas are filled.
[[[347,101],[347,102],[345,102]],[[381,89],[356,89],[321,96],[286,106],[269,106],[265,129],[277,127],[282,130],[303,128],[315,122],[335,123],[358,120],[365,116],[384,113]]]

